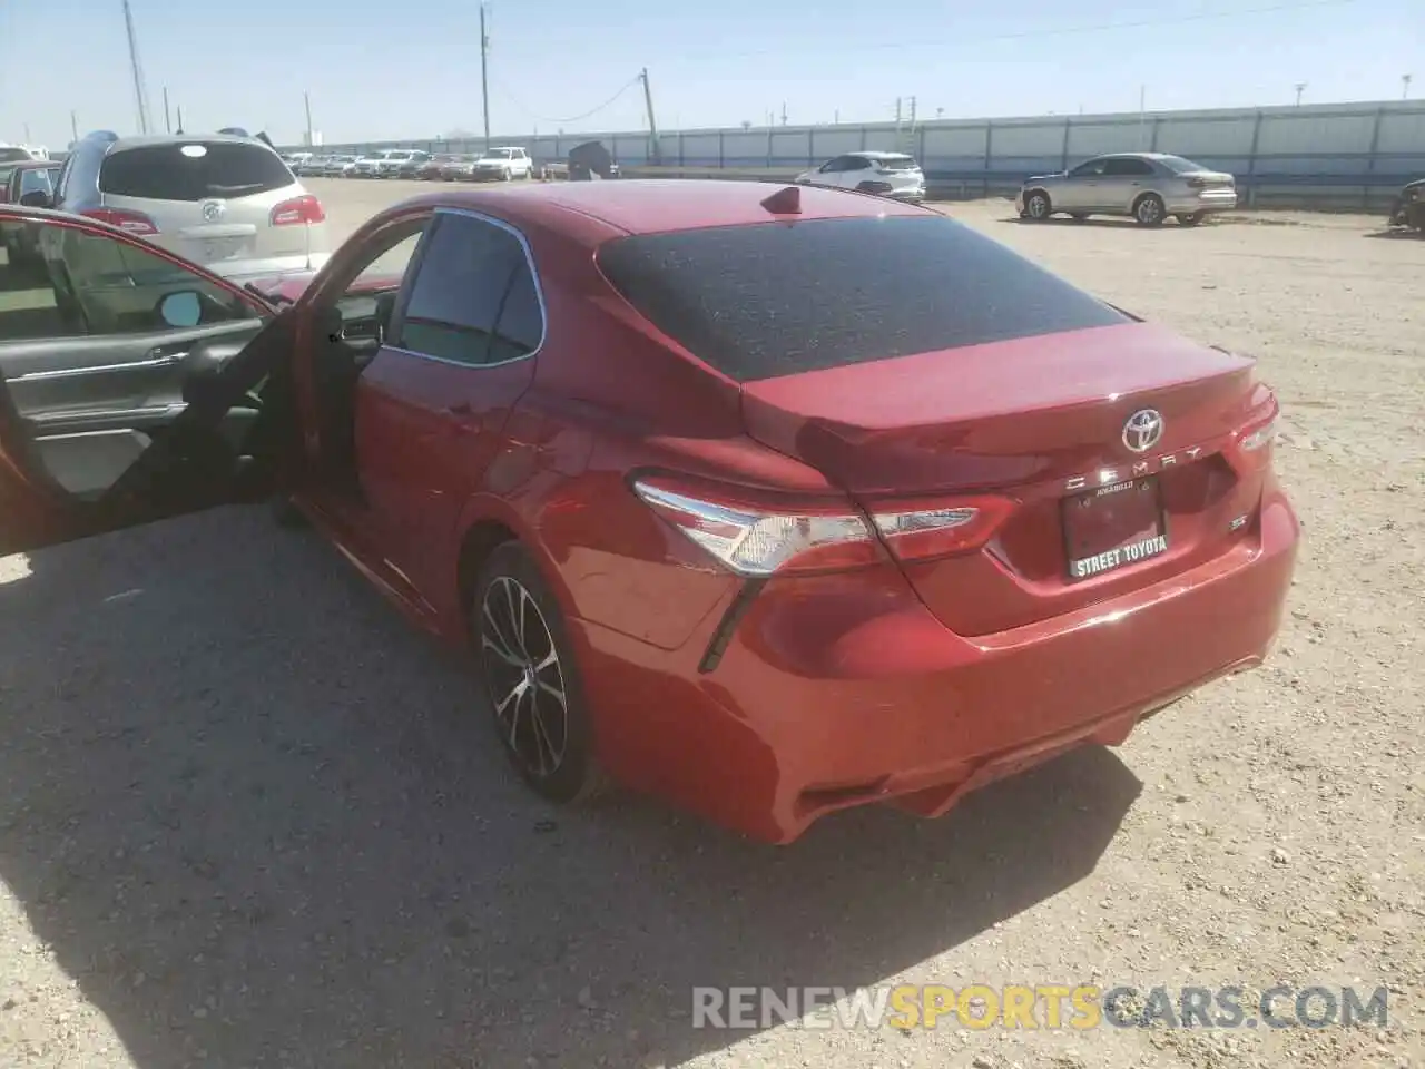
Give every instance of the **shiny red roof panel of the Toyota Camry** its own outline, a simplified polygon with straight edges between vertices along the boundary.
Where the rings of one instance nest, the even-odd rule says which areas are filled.
[[[768,197],[788,188],[797,190],[799,195],[798,215],[778,217],[762,207]],[[620,178],[542,182],[499,191],[452,190],[416,197],[388,211],[396,212],[418,202],[489,214],[514,227],[547,227],[590,244],[630,234],[740,227],[788,218],[849,220],[935,214],[929,208],[842,190],[718,178]]]

